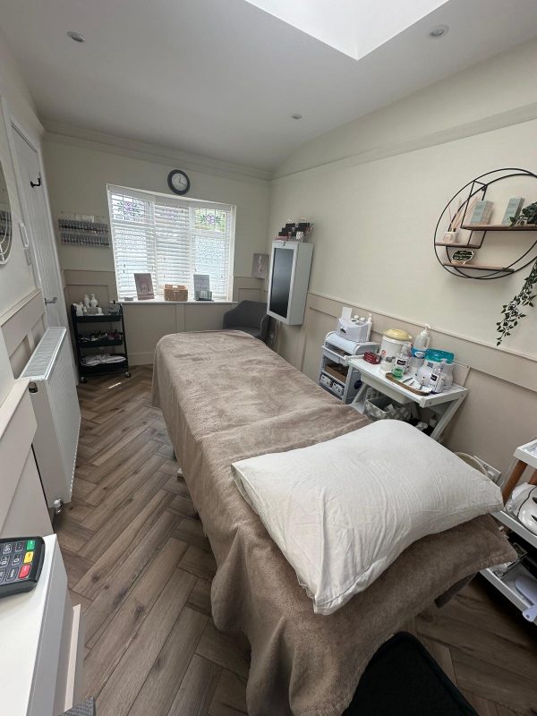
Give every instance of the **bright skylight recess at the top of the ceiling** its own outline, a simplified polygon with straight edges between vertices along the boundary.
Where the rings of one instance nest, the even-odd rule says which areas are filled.
[[[359,60],[447,0],[246,0]]]

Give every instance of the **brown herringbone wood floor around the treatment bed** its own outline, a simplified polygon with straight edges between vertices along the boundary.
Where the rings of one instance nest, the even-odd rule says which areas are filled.
[[[98,716],[240,716],[248,644],[210,618],[214,558],[150,385],[139,367],[79,389],[73,500],[55,529],[86,618],[84,693]],[[482,716],[537,714],[537,630],[481,577],[406,628]]]

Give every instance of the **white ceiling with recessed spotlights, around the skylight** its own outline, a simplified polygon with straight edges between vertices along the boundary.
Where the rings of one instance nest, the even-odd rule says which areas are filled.
[[[450,30],[431,39],[437,24]],[[43,121],[271,171],[303,141],[533,38],[537,2],[447,0],[386,42],[375,27],[382,44],[359,59],[246,0],[0,0],[0,26]]]

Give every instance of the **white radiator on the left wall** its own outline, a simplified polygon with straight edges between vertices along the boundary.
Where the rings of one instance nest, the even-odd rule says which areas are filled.
[[[48,507],[56,511],[71,501],[81,409],[72,371],[66,328],[48,328],[21,378],[30,380],[38,421],[33,441]]]

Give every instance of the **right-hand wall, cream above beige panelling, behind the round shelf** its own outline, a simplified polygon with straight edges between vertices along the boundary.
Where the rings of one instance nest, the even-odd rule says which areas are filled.
[[[501,306],[529,269],[497,281],[452,277],[432,241],[441,209],[474,175],[502,166],[537,171],[537,106],[524,106],[536,63],[537,42],[527,43],[307,142],[279,167],[269,217],[268,241],[287,217],[315,226],[304,325],[283,327],[281,353],[317,379],[322,338],[343,305],[371,311],[376,330],[415,335],[430,323],[434,344],[471,368],[471,393],[448,444],[503,470],[537,433],[537,311],[495,347]],[[491,197],[500,214],[517,191],[537,200],[537,181]],[[482,260],[502,260],[513,248],[488,241]]]

